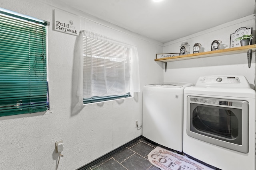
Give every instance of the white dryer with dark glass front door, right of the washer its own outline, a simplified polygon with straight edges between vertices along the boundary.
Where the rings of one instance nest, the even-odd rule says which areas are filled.
[[[183,152],[222,170],[255,170],[255,103],[244,76],[200,77],[184,89]]]

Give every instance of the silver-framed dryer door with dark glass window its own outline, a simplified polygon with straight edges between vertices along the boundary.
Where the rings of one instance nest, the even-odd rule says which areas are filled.
[[[248,152],[248,102],[189,96],[188,108],[189,136]]]

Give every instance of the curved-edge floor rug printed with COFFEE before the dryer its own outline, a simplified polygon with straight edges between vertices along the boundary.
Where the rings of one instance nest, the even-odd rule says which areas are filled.
[[[161,170],[213,170],[186,156],[161,147],[152,150],[148,154],[148,160]]]

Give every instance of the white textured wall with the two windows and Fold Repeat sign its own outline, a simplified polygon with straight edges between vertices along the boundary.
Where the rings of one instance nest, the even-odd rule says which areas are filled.
[[[63,139],[64,157],[60,158],[58,169],[73,170],[142,135],[142,130],[135,127],[135,120],[142,123],[142,92],[134,98],[82,106],[82,98],[76,96],[77,37],[52,30],[53,10],[63,9],[77,15],[82,29],[137,46],[141,91],[145,84],[163,80],[163,66],[154,62],[156,53],[162,53],[162,43],[52,0],[1,0],[0,7],[51,24],[48,27],[50,110],[0,117],[0,169],[55,170],[58,161],[55,141]]]

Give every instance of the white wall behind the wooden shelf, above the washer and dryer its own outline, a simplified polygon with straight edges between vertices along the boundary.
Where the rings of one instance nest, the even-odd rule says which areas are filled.
[[[254,15],[165,43],[164,53],[179,53],[180,45],[183,41],[189,43],[191,49],[190,53],[193,53],[193,46],[195,43],[201,43],[203,51],[211,51],[211,44],[214,40],[222,41],[220,49],[229,48],[230,34],[234,33],[240,27],[252,27],[255,37]],[[255,44],[255,39],[253,39],[253,42],[253,44]],[[255,55],[253,53],[252,65],[250,68],[248,68],[246,53],[168,62],[167,72],[164,71],[164,81],[181,81],[195,84],[199,76],[214,74],[244,75],[252,88],[254,88]]]

